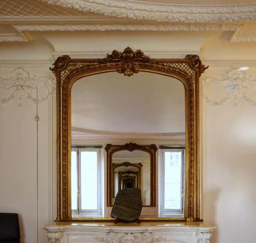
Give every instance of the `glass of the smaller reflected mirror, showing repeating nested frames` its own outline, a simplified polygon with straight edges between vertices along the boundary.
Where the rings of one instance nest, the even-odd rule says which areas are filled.
[[[135,187],[141,190],[142,205],[150,205],[150,154],[144,151],[123,150],[112,155],[114,199],[119,190]]]

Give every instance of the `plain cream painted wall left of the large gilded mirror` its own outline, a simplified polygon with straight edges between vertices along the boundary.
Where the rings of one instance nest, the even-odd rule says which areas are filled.
[[[0,77],[9,78],[14,69],[1,68]],[[53,77],[48,68],[24,69],[30,78]],[[39,84],[34,98],[36,91],[45,98],[49,89]],[[0,98],[9,95],[1,87]],[[18,213],[21,243],[47,242],[41,226],[56,218],[55,95],[38,105],[27,101],[22,108],[13,100],[0,103],[0,114],[0,212]]]

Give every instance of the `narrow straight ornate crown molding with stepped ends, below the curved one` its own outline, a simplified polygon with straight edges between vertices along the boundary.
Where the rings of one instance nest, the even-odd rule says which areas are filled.
[[[240,35],[244,24],[14,24],[17,34],[0,34],[1,41],[28,41],[25,31],[231,31],[229,42],[256,41],[256,35]]]

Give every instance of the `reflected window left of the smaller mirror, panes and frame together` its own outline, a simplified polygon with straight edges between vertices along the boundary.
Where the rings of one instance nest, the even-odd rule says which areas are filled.
[[[102,217],[101,157],[101,147],[71,149],[73,217]]]

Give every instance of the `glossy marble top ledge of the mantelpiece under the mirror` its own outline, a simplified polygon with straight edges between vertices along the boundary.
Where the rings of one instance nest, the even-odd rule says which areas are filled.
[[[216,227],[206,222],[141,222],[118,223],[114,222],[51,222],[42,226],[48,232],[57,231],[97,231],[97,232],[164,232],[164,231],[196,231],[211,232]]]

